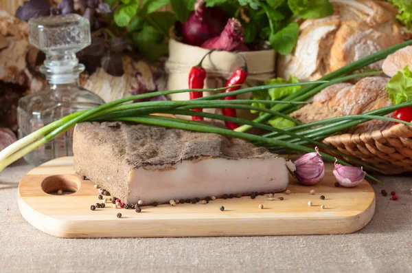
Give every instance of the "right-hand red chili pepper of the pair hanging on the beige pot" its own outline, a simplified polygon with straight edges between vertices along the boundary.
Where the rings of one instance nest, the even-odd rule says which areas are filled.
[[[225,93],[240,89],[240,85],[242,85],[247,78],[247,63],[244,60],[243,56],[241,55],[239,56],[242,57],[244,64],[242,67],[239,67],[238,69],[236,69],[235,72],[232,74],[232,76],[227,81],[225,87],[231,87],[231,88],[226,89]],[[233,85],[238,85],[238,86],[232,87]],[[236,99],[236,96],[227,96],[223,98],[223,100],[235,100],[235,99]],[[236,118],[236,109],[234,108],[224,108],[222,109],[222,113],[224,116]],[[231,130],[234,130],[239,127],[239,124],[236,122],[225,121],[225,124],[227,128]]]

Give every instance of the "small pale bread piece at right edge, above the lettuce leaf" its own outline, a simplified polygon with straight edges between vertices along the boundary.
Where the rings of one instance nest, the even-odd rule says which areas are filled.
[[[412,69],[412,45],[404,47],[397,52],[387,56],[382,64],[382,70],[389,77],[393,77],[398,70],[406,66]]]

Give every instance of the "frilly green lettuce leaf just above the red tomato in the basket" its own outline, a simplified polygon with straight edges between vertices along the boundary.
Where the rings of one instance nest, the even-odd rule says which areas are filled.
[[[412,72],[409,67],[398,71],[387,83],[389,99],[394,105],[412,99]]]

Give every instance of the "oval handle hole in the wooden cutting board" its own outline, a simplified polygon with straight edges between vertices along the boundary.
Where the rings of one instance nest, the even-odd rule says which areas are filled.
[[[80,180],[75,175],[53,175],[43,180],[41,188],[49,195],[58,195],[58,190],[62,190],[62,195],[71,195],[80,188]]]

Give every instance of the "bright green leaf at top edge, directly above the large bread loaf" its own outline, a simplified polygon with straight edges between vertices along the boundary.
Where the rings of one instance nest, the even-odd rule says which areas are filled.
[[[288,6],[303,19],[326,17],[333,13],[329,0],[288,0]]]

